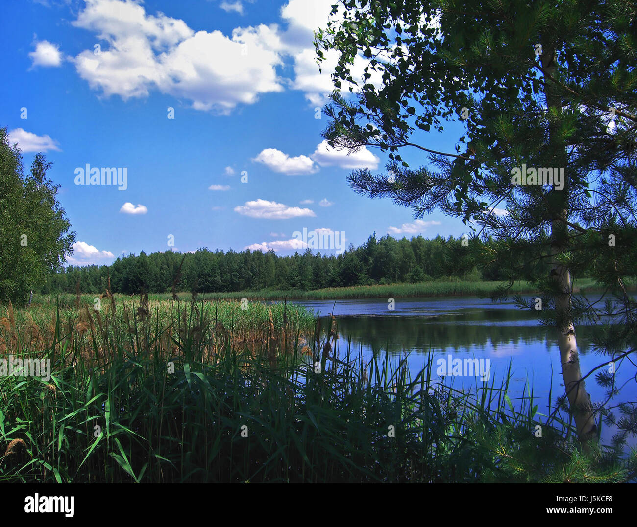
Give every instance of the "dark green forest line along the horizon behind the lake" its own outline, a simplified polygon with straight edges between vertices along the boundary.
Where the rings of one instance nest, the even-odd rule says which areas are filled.
[[[342,255],[303,254],[277,256],[274,251],[228,252],[207,248],[195,253],[165,251],[117,258],[112,265],[69,265],[48,276],[41,293],[73,293],[79,281],[83,293],[111,291],[134,294],[170,292],[234,292],[244,290],[315,290],[388,283],[417,283],[458,276],[469,280],[499,280],[497,265],[474,267],[458,274],[451,246],[459,239],[422,236],[396,240],[376,239],[358,248],[350,245]]]

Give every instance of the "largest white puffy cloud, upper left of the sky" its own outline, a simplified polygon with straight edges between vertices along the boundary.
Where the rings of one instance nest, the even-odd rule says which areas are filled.
[[[104,95],[146,97],[159,90],[204,111],[229,113],[259,94],[283,87],[276,26],[193,31],[183,20],[150,15],[138,3],[86,0],[73,25],[106,41],[101,53],[85,50],[73,59],[80,77]],[[106,48],[106,49],[104,49]]]

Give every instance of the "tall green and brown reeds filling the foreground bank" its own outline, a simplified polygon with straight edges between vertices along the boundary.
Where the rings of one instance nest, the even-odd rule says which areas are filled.
[[[380,350],[364,363],[335,319],[298,306],[83,299],[4,309],[0,358],[51,358],[54,374],[0,377],[0,481],[634,477],[634,460],[580,454],[532,391],[514,407],[508,378],[465,393],[431,376],[431,354],[413,378]]]

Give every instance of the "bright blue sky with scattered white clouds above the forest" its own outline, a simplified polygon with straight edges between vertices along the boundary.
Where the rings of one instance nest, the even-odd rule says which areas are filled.
[[[466,232],[441,214],[415,221],[390,200],[357,195],[347,174],[383,172],[386,155],[322,144],[327,120],[315,108],[332,84],[329,64],[318,73],[312,30],[331,3],[4,1],[0,126],[26,168],[37,151],[53,163],[77,234],[69,263],[203,246],[287,255],[303,251],[292,239],[303,228],[344,232],[355,246],[372,232]],[[461,131],[450,130],[420,142],[454,151]],[[401,155],[426,162],[417,150]],[[76,185],[87,164],[125,168],[127,188]]]

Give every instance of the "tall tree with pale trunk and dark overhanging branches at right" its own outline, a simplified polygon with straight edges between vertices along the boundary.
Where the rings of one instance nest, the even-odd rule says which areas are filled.
[[[352,188],[390,197],[415,218],[436,209],[461,218],[474,236],[495,241],[455,244],[464,251],[457,265],[497,262],[511,283],[536,281],[582,440],[596,424],[576,322],[615,316],[620,325],[597,344],[609,360],[636,349],[626,292],[637,274],[636,18],[626,0],[341,0],[315,41],[319,62],[338,57],[336,87],[347,82],[355,94],[334,92],[324,137],[389,153],[386,173],[355,171]],[[359,81],[352,68],[361,55],[368,65]],[[424,132],[444,122],[464,127],[455,151],[426,146]],[[411,167],[407,150],[427,163]],[[527,167],[534,177],[518,179]],[[547,185],[537,184],[540,173]],[[548,263],[540,278],[538,262]],[[574,274],[596,278],[619,306],[600,313],[573,297]],[[629,418],[620,428],[636,432],[635,409],[622,409]]]

